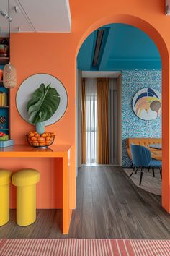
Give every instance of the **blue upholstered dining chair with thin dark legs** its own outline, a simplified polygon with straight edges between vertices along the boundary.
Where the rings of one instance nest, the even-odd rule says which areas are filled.
[[[142,183],[142,177],[143,177],[143,168],[152,168],[153,171],[153,177],[155,176],[154,168],[159,168],[160,175],[161,175],[161,161],[155,160],[151,158],[151,151],[141,145],[135,145],[131,144],[131,154],[132,154],[132,160],[133,160],[133,172],[138,170],[140,168],[140,182]],[[130,177],[133,175],[133,172],[130,174]]]

